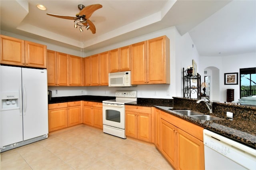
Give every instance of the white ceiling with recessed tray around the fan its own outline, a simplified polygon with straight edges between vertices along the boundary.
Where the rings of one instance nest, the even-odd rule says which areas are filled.
[[[102,4],[89,18],[96,34],[80,33],[72,20],[46,15],[75,16],[78,4]],[[189,32],[200,55],[256,51],[255,0],[0,0],[0,6],[1,31],[84,51],[170,26],[181,35]]]

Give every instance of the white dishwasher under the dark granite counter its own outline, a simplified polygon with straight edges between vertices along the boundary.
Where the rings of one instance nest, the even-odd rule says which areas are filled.
[[[256,150],[204,129],[206,170],[256,170]]]

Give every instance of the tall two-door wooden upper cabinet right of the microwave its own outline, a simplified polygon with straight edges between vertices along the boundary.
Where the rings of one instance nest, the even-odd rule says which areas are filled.
[[[166,36],[132,44],[132,84],[170,83],[170,40]]]

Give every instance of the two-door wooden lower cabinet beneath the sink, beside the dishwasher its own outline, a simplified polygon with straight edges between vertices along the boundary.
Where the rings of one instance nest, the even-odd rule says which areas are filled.
[[[160,152],[174,169],[204,169],[203,128],[162,111],[160,114]]]

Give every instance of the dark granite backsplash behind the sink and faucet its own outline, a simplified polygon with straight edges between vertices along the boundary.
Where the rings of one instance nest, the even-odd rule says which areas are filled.
[[[208,108],[205,103],[196,103],[196,99],[184,99],[179,97],[174,98],[174,105],[179,105],[205,113],[210,115]],[[242,106],[242,105],[233,105],[226,103],[213,103],[213,113],[212,115],[217,117],[226,118],[226,112],[232,112],[234,118],[248,119],[251,121],[256,121],[256,107],[251,106]]]

